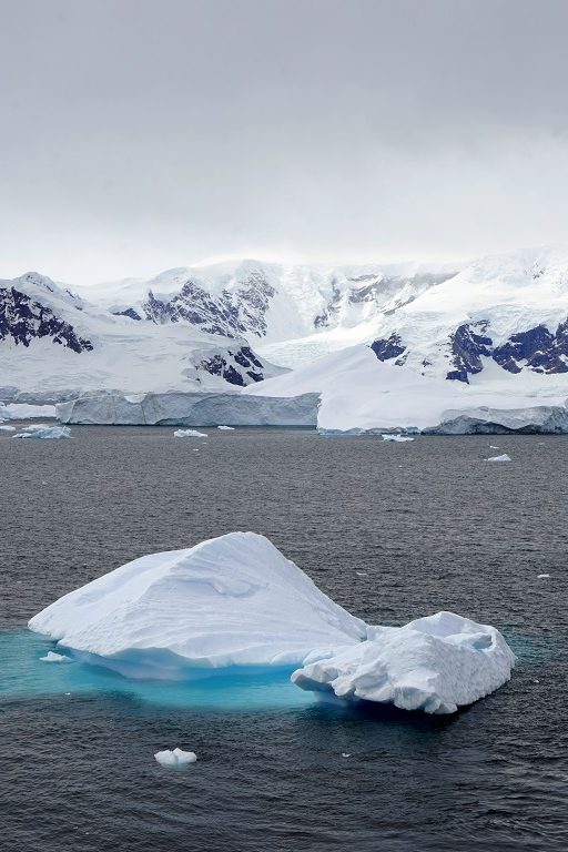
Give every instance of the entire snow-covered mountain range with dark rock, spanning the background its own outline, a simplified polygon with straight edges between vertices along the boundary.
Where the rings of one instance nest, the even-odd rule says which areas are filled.
[[[568,390],[566,246],[458,272],[247,260],[80,292],[36,273],[0,282],[2,385],[237,389],[281,372],[272,364],[298,367],[365,344],[378,361],[444,381]]]

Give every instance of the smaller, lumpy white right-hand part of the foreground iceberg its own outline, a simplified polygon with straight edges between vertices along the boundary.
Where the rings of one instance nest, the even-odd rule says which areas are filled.
[[[494,627],[438,612],[311,661],[292,682],[321,697],[453,713],[510,678],[515,655]]]

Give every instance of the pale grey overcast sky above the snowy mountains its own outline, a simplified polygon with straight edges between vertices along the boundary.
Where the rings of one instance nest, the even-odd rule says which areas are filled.
[[[567,0],[0,11],[0,277],[568,241]]]

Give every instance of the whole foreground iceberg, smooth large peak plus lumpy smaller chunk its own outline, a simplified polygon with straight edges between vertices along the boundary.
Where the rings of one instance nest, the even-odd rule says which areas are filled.
[[[54,601],[29,628],[124,677],[282,670],[317,698],[428,713],[493,692],[515,663],[498,630],[453,613],[367,625],[253,532],[135,559]]]

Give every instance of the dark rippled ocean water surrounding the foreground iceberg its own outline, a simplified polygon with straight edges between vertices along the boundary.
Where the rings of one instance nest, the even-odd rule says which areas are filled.
[[[568,438],[207,432],[0,433],[2,852],[566,850]],[[513,462],[485,463],[491,444]],[[511,681],[428,718],[318,704],[280,673],[133,683],[39,661],[52,643],[26,622],[57,597],[234,529],[367,621],[496,625]],[[155,763],[176,746],[197,763]]]

